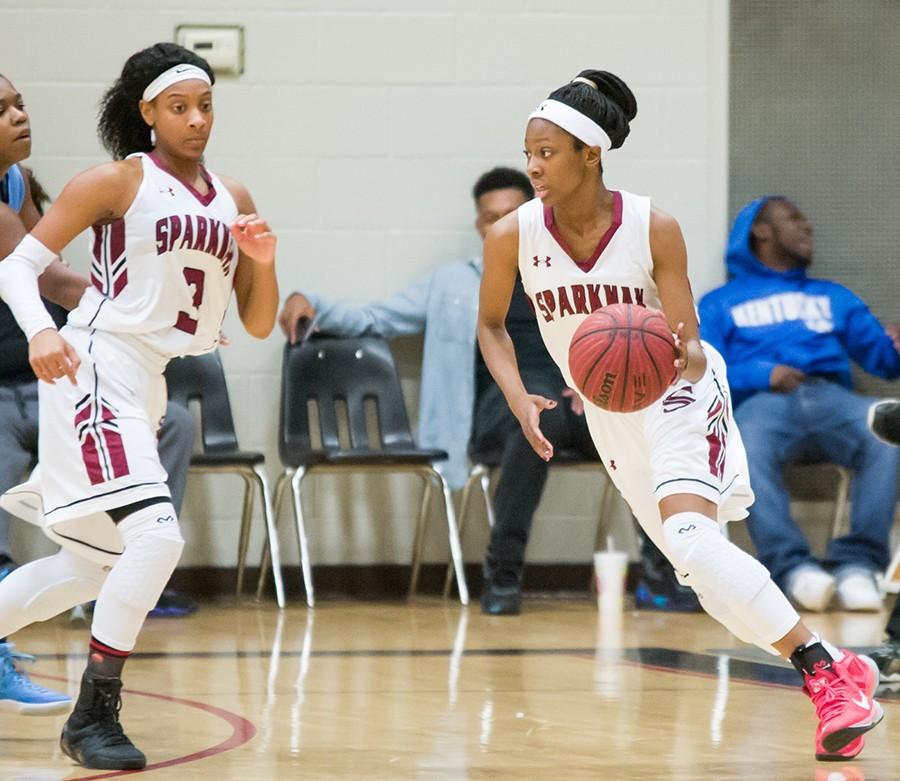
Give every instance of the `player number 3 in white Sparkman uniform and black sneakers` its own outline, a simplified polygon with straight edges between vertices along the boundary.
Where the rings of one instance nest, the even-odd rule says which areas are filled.
[[[213,81],[205,60],[175,44],[129,58],[100,116],[116,162],[76,176],[0,263],[0,296],[44,380],[39,486],[18,498],[63,546],[0,582],[0,636],[96,600],[61,740],[85,767],[146,764],[118,712],[122,667],[184,545],[156,442],[163,370],[215,349],[232,288],[253,336],[269,334],[278,306],[274,235],[240,184],[201,163]],[[37,277],[89,228],[92,287],[57,332]]]

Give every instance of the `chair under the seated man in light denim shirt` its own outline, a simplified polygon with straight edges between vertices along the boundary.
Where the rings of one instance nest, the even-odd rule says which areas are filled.
[[[459,536],[462,538],[468,519],[469,500],[472,489],[478,486],[481,499],[484,502],[484,511],[487,516],[488,526],[494,527],[494,507],[491,503],[491,475],[500,466],[502,453],[499,450],[484,453],[469,453],[469,459],[474,466],[469,472],[469,478],[463,488],[462,501],[459,508]],[[584,454],[575,450],[558,450],[550,461],[550,466],[560,469],[571,469],[581,472],[599,472],[606,478],[603,490],[600,494],[600,515],[597,521],[597,535],[594,542],[594,550],[603,550],[606,547],[606,525],[612,512],[612,503],[615,501],[618,491],[612,484],[612,480],[606,474],[606,467],[599,457],[586,458]],[[447,576],[444,579],[444,596],[450,593],[453,586],[453,567],[447,565]]]

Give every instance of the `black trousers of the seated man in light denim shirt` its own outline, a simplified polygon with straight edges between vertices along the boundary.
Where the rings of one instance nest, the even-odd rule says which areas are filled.
[[[586,460],[597,458],[584,416],[572,412],[570,400],[560,395],[562,388],[539,377],[523,377],[523,381],[529,393],[559,402],[541,413],[541,431],[554,450],[565,448],[583,454]],[[471,449],[476,454],[501,454],[488,559],[521,569],[531,522],[553,462],[547,463],[531,449],[496,385],[489,386],[476,403]]]

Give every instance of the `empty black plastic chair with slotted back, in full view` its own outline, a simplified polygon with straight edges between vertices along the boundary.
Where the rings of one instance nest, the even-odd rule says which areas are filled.
[[[314,595],[301,487],[306,476],[313,472],[351,470],[413,472],[424,480],[425,492],[413,542],[410,596],[418,582],[431,491],[434,487],[440,490],[451,560],[460,583],[459,598],[464,605],[468,604],[450,489],[434,467],[434,462],[446,459],[447,454],[416,447],[387,342],[377,337],[313,337],[299,344],[285,345],[278,446],[285,471],[275,487],[276,517],[284,489],[290,484],[303,582],[310,606],[314,604]],[[265,561],[264,556],[257,593],[262,588]]]

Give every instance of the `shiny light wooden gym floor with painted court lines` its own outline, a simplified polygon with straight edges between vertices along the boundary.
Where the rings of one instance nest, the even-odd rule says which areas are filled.
[[[867,646],[884,616],[809,619]],[[60,617],[14,639],[35,680],[75,693],[84,628]],[[148,779],[900,778],[900,693],[860,758],[816,762],[791,669],[706,616],[606,618],[587,599],[513,618],[438,599],[204,605],[149,620],[125,683]],[[62,756],[64,718],[0,716],[0,779],[123,775]]]

